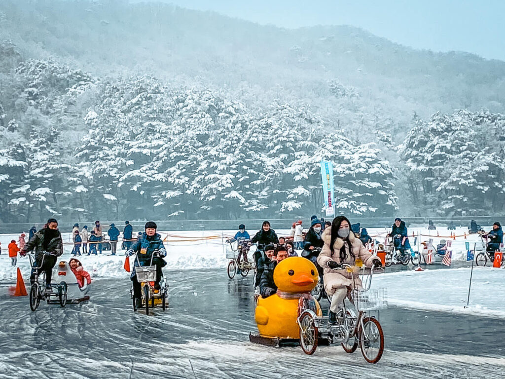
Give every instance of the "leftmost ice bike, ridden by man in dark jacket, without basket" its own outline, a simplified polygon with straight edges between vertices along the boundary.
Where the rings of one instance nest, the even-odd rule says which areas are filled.
[[[67,283],[61,281],[59,284],[51,284],[51,291],[45,289],[45,286],[41,286],[38,277],[40,274],[40,269],[44,264],[44,259],[47,255],[52,255],[51,253],[44,252],[40,262],[40,266],[35,265],[35,257],[32,254],[27,254],[30,260],[30,267],[34,271],[33,283],[30,286],[30,309],[35,312],[40,304],[40,300],[46,301],[47,304],[60,303],[63,308],[67,305]],[[45,271],[42,273],[42,282],[45,282]],[[56,292],[54,291],[56,290]]]

